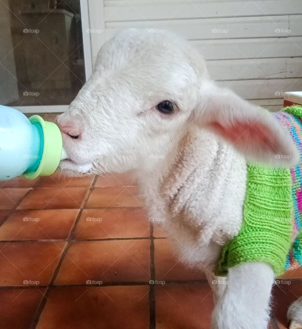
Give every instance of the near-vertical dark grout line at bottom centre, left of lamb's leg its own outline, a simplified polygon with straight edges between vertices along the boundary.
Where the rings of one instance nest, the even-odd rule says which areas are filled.
[[[153,223],[150,222],[150,279],[155,281]],[[149,329],[156,328],[155,284],[149,284]]]

